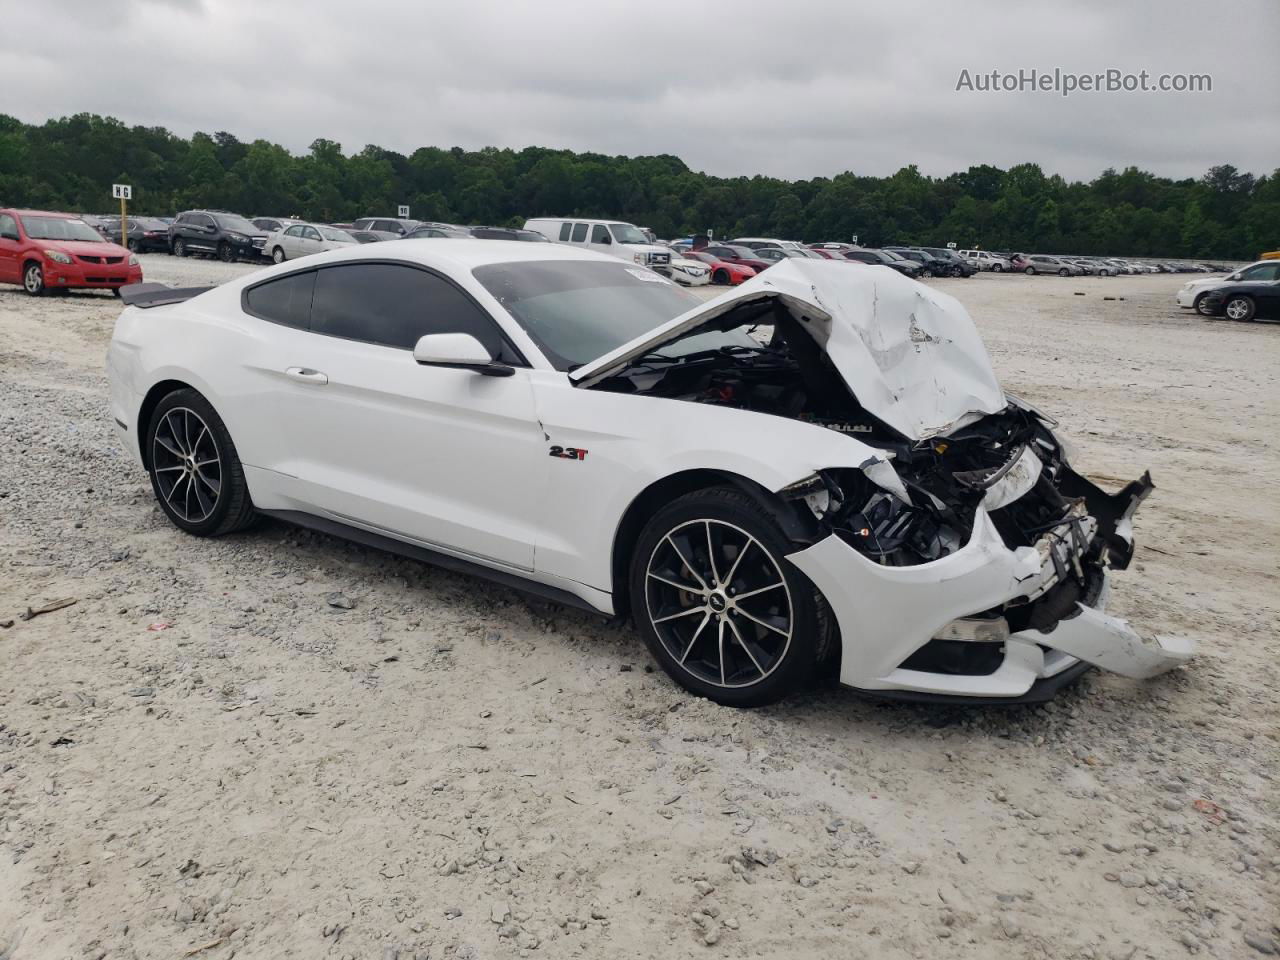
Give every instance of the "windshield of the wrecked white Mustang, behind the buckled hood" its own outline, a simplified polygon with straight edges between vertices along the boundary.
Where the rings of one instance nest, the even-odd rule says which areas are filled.
[[[541,260],[477,266],[475,278],[506,307],[557,370],[573,370],[662,326],[701,301],[664,276],[626,264]],[[681,356],[755,347],[745,333],[712,332],[664,348]]]

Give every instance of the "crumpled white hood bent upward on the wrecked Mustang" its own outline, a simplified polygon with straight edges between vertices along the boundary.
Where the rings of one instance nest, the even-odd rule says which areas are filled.
[[[945,434],[1007,406],[978,329],[955,297],[896,270],[850,270],[833,260],[783,260],[570,378],[590,387],[744,302],[774,297],[831,357],[858,402],[905,436]]]

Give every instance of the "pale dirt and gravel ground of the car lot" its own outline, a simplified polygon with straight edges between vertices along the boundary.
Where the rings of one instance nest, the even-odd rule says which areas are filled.
[[[937,283],[1078,467],[1151,468],[1114,608],[1198,659],[1038,708],[754,712],[507,589],[178,532],[113,436],[116,302],[0,289],[0,957],[1271,952],[1280,326],[1179,311],[1184,279]]]

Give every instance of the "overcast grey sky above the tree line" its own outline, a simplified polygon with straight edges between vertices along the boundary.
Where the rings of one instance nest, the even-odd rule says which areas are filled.
[[[0,113],[305,151],[675,154],[718,175],[1039,163],[1280,166],[1280,3],[61,0],[10,4]],[[1207,93],[956,91],[1019,68],[1208,73]]]

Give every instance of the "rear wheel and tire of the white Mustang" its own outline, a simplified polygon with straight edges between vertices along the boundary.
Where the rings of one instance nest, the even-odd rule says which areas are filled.
[[[253,502],[236,444],[200,393],[174,390],[156,404],[145,449],[151,489],[179,530],[218,536],[252,522]]]

